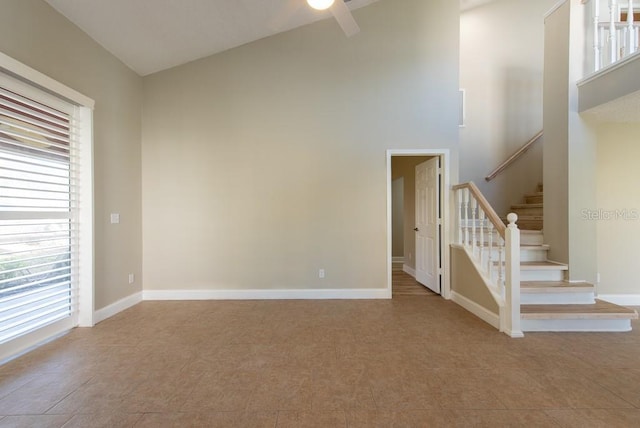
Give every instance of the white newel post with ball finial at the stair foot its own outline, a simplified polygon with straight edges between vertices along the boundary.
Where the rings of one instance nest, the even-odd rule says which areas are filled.
[[[505,333],[511,337],[523,337],[520,326],[520,230],[516,225],[518,216],[507,216],[505,239]]]

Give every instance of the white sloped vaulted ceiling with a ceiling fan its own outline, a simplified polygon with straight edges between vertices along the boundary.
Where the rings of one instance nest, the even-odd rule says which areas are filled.
[[[331,18],[305,0],[45,1],[141,76]],[[347,1],[354,10],[379,0]]]

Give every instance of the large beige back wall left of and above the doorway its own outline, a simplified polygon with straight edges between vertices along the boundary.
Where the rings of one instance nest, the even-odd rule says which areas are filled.
[[[383,0],[144,79],[145,289],[386,287],[386,150],[450,148],[459,5]],[[326,278],[318,278],[318,269]]]

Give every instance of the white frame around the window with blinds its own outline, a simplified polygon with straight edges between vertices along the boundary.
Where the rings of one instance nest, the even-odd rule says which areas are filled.
[[[93,109],[94,100],[0,52],[0,71],[17,79],[25,91],[48,92],[75,105],[80,119],[78,170],[78,309],[71,327],[94,325]],[[10,342],[0,349],[0,361],[37,346],[69,325],[52,324]]]

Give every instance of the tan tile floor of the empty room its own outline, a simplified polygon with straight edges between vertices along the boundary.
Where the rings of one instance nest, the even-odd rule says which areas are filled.
[[[637,427],[631,333],[510,339],[433,296],[144,302],[0,367],[0,427]]]

